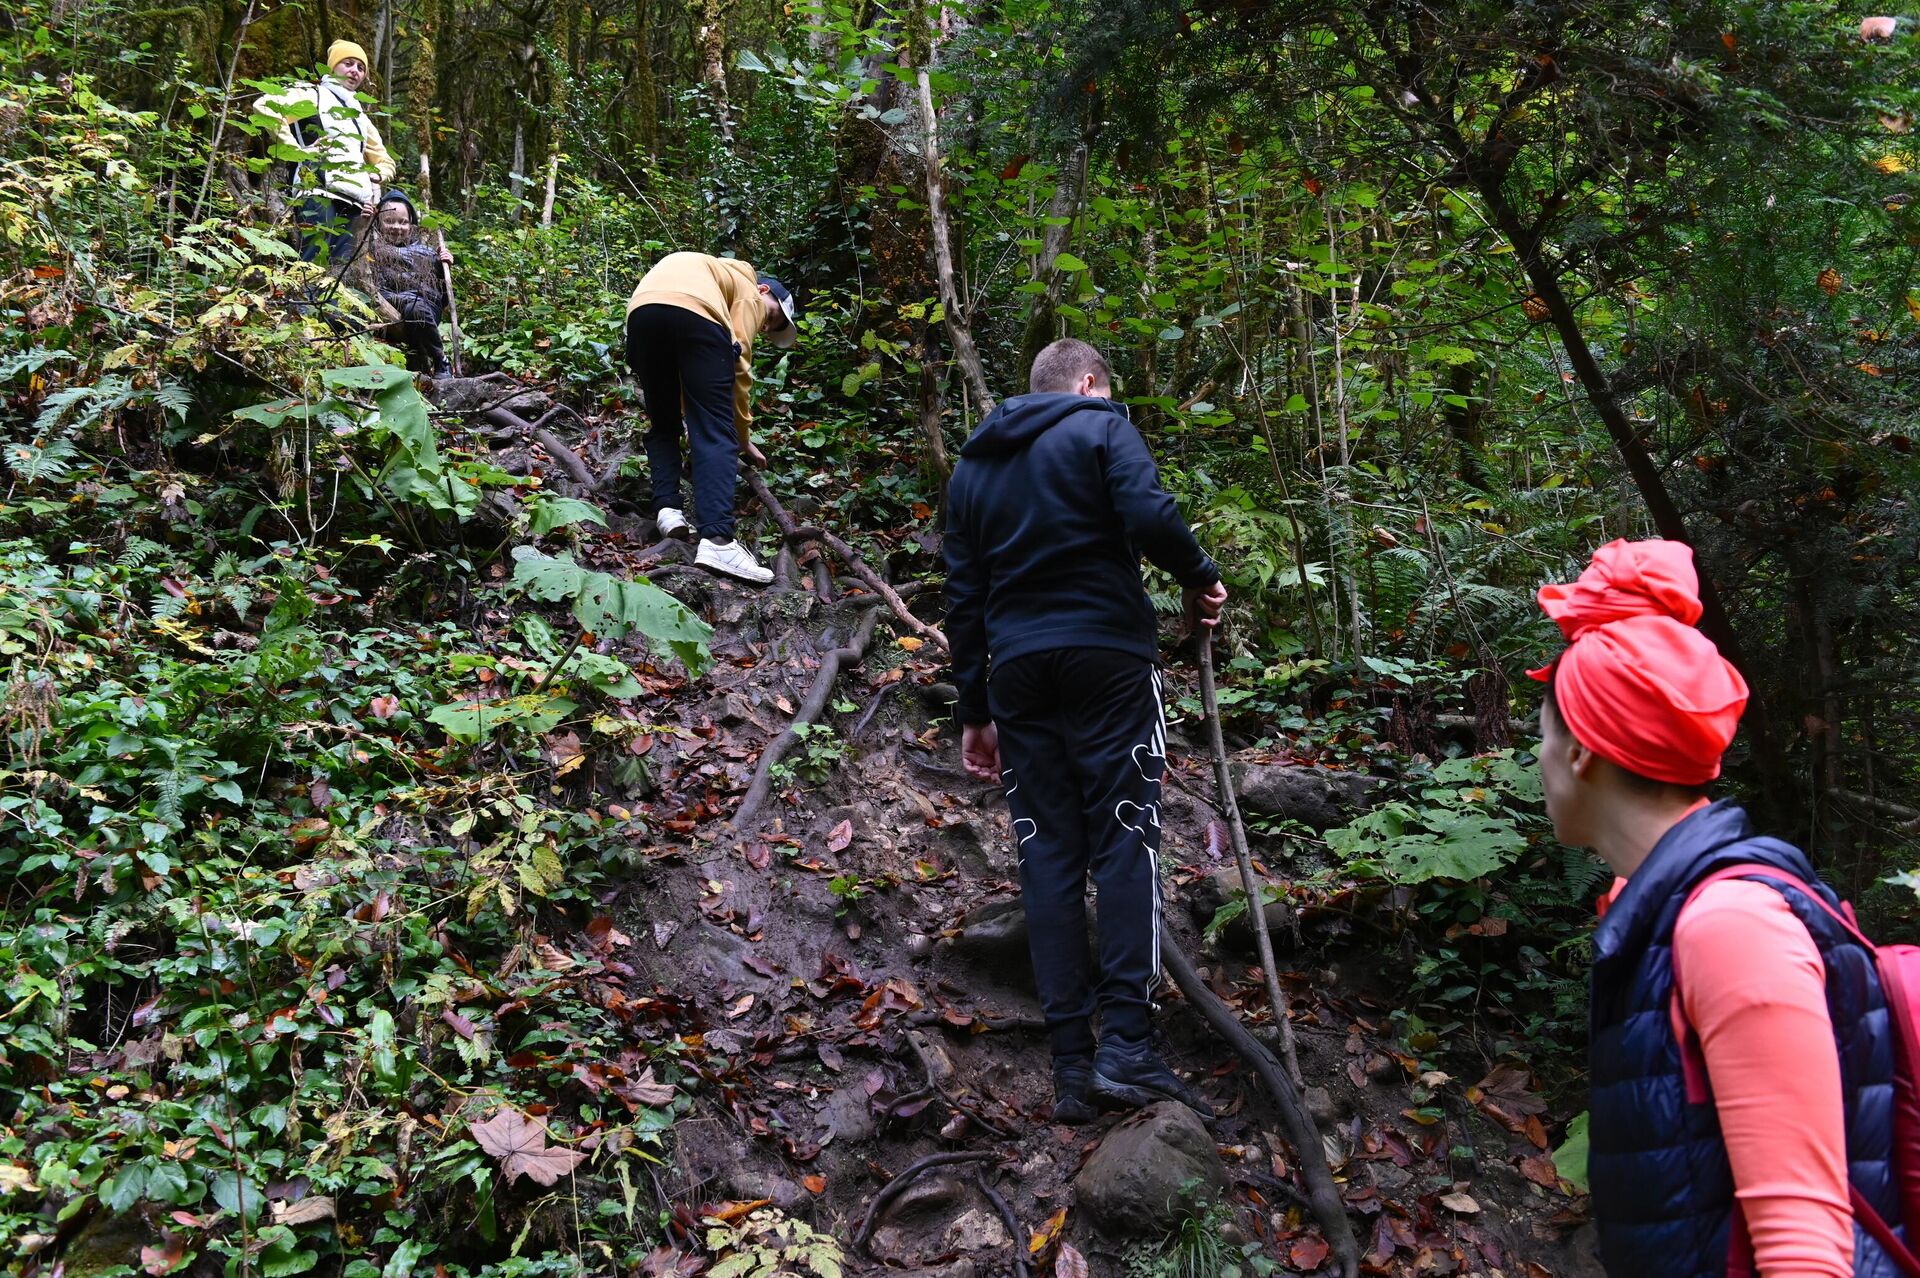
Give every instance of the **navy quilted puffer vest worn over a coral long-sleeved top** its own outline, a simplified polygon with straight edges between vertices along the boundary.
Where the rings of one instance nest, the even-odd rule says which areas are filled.
[[[1588,1176],[1609,1274],[1711,1278],[1728,1270],[1734,1176],[1713,1100],[1688,1101],[1668,1000],[1674,919],[1688,890],[1715,869],[1738,864],[1786,869],[1836,900],[1803,852],[1776,839],[1755,839],[1745,812],[1716,802],[1667,831],[1594,933]],[[1847,1103],[1849,1174],[1897,1226],[1895,1044],[1872,956],[1803,892],[1778,881],[1774,887],[1826,963],[1826,1004]],[[1853,1234],[1855,1274],[1901,1278],[1859,1224]]]

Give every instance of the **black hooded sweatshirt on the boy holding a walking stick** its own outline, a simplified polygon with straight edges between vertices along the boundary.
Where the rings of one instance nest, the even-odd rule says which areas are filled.
[[[1052,649],[1158,656],[1140,555],[1219,581],[1146,441],[1110,399],[1016,395],[960,449],[948,489],[947,639],[960,722],[987,723],[987,660]]]

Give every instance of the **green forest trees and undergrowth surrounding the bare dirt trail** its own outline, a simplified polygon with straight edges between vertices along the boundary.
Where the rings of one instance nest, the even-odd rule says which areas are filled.
[[[647,750],[726,743],[676,698],[778,651],[628,580],[653,560],[624,301],[684,248],[795,288],[801,343],[758,361],[770,499],[929,616],[972,426],[1054,338],[1108,353],[1233,589],[1229,731],[1394,787],[1260,837],[1302,892],[1396,887],[1369,908],[1409,958],[1390,1032],[1417,1077],[1524,1055],[1576,1094],[1599,873],[1540,812],[1523,672],[1557,643],[1534,589],[1613,537],[1695,549],[1701,626],[1755,693],[1728,787],[1910,925],[1920,36],[1860,17],[12,8],[0,1238],[31,1272],[127,1220],[146,1272],[753,1255],[647,1180],[701,1088],[745,1113],[745,1065],[689,1046],[684,992],[609,996],[555,948],[607,959],[622,890],[726,842],[755,752],[674,789]],[[453,251],[468,372],[536,388],[534,436],[424,395],[351,284],[296,261],[259,102],[336,38]],[[831,560],[756,528],[826,599]],[[939,683],[939,645],[889,651]],[[801,733],[781,794],[831,785],[843,727]],[[555,1144],[516,1128],[501,1163],[476,1098],[551,1105]],[[591,1194],[513,1190],[589,1155]],[[789,1226],[826,1274],[835,1245]]]

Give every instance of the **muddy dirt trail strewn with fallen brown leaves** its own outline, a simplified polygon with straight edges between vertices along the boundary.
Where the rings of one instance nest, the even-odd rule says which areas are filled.
[[[728,817],[756,758],[874,601],[845,593],[860,589],[847,580],[822,603],[804,555],[781,578],[803,587],[735,589],[674,564],[672,545],[645,547],[643,532],[595,537],[580,556],[609,570],[653,564],[716,626],[716,666],[697,683],[653,679],[628,710],[653,731],[624,758],[595,752],[570,781],[582,804],[622,804],[649,821],[611,944],[632,973],[626,996],[651,1000],[645,1032],[678,1036],[682,1065],[699,1075],[695,1113],[674,1126],[657,1186],[678,1228],[691,1240],[703,1213],[768,1199],[843,1242],[870,1224],[868,1251],[849,1247],[854,1270],[1066,1274],[1077,1253],[1094,1274],[1148,1272],[1154,1240],[1075,1207],[1075,1172],[1121,1121],[1046,1123],[1048,1053],[1006,812],[958,768],[939,651],[914,635],[900,643],[908,627],[879,608],[866,658],[829,698],[831,733],[789,752],[795,773],[776,785],[760,833],[743,839]],[[1196,936],[1194,915],[1212,915],[1215,873],[1231,867],[1208,839],[1215,812],[1198,733],[1173,727],[1169,769],[1167,923],[1212,988],[1258,1023],[1267,998],[1250,950],[1221,954]],[[1302,794],[1325,808],[1332,787]],[[1473,1078],[1413,1078],[1417,1065],[1384,1032],[1405,956],[1361,940],[1309,925],[1281,965],[1363,1270],[1597,1274],[1580,1203],[1528,1121],[1544,1101],[1511,1067],[1476,1092]],[[1258,1245],[1283,1272],[1319,1270],[1327,1245],[1265,1094],[1171,988],[1162,998],[1164,1052],[1221,1115],[1212,1140],[1233,1190],[1210,1228],[1235,1249]],[[983,1157],[931,1169],[866,1220],[889,1178],[956,1151]]]

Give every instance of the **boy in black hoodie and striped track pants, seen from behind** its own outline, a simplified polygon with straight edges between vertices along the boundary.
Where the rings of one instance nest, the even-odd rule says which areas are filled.
[[[1215,626],[1227,587],[1110,399],[1106,359],[1085,342],[1054,342],[1033,361],[1031,386],[966,441],[948,495],[947,637],[962,762],[1006,785],[1014,814],[1054,1050],[1054,1119],[1085,1123],[1092,1101],[1177,1100],[1208,1113],[1146,1042],[1167,750],[1140,555],[1185,587],[1188,622]],[[1087,946],[1089,873],[1098,969]]]

